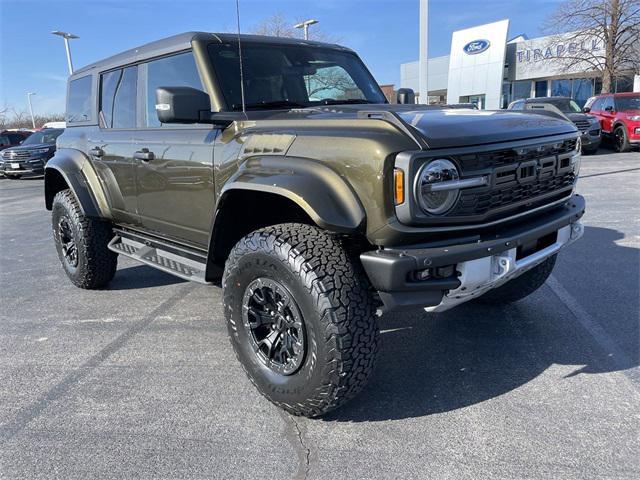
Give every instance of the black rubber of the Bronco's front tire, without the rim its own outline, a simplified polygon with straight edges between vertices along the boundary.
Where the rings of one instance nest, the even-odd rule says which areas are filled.
[[[293,374],[258,359],[243,323],[245,291],[257,278],[280,282],[304,319],[306,352]],[[227,259],[224,312],[236,356],[258,391],[293,415],[316,417],[357,395],[379,346],[376,306],[362,267],[340,240],[305,224],[281,224],[242,238]]]

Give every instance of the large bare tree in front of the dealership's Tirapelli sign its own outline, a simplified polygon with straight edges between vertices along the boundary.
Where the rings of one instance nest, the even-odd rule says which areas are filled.
[[[563,70],[599,72],[603,93],[618,75],[640,71],[640,0],[566,0],[546,30],[555,37],[555,61]]]

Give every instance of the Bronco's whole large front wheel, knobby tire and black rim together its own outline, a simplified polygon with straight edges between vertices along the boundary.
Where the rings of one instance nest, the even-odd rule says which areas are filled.
[[[250,233],[229,255],[222,285],[233,348],[271,402],[315,417],[364,387],[379,343],[375,303],[336,237],[304,224]]]

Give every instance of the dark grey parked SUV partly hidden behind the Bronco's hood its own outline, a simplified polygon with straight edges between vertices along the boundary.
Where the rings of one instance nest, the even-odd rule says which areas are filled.
[[[516,100],[509,104],[508,109],[536,111],[536,106],[544,104],[555,107],[580,130],[582,153],[588,155],[598,150],[602,141],[600,122],[595,116],[584,113],[570,97],[536,97]]]

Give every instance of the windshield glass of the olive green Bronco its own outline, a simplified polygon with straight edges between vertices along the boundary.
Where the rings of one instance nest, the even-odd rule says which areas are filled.
[[[232,110],[242,110],[237,44],[212,44],[209,54],[227,103]],[[351,52],[247,42],[242,44],[242,67],[247,109],[386,103]]]

